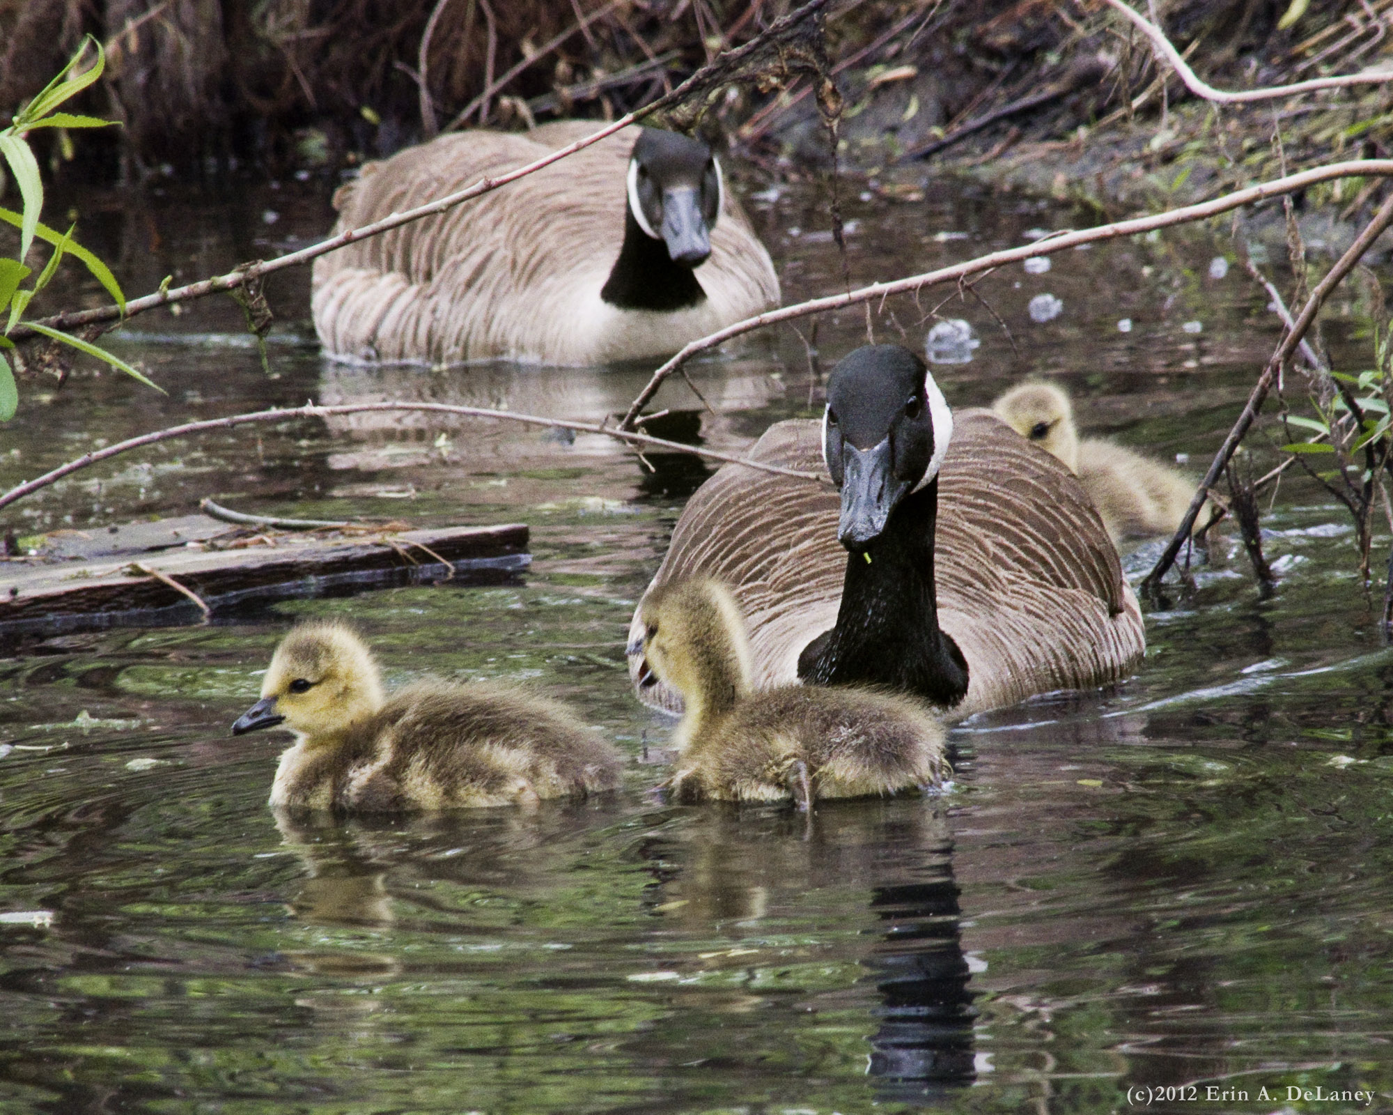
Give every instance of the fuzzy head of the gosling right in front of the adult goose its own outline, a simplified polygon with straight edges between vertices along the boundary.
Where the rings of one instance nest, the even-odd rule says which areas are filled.
[[[749,693],[745,617],[730,590],[696,578],[653,588],[639,608],[644,634],[628,647],[684,702],[729,705]]]

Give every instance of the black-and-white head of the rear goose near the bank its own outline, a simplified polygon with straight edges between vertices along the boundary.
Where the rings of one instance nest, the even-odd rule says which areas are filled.
[[[695,268],[710,255],[720,213],[720,164],[701,139],[644,128],[628,160],[628,209],[674,263]]]

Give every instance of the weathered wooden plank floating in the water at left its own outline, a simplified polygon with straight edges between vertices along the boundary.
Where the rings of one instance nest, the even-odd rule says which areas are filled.
[[[216,613],[341,587],[439,581],[451,571],[467,583],[496,581],[531,562],[521,523],[390,535],[276,534],[270,541],[244,549],[178,546],[93,560],[6,562],[0,640],[199,617],[196,605],[149,571],[174,578]]]

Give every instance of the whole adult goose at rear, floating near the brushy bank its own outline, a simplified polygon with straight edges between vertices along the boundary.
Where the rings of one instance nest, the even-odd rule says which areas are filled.
[[[443,135],[334,195],[336,231],[535,162],[595,130]],[[446,364],[674,353],[779,301],[769,254],[699,139],[625,128],[439,216],[315,261],[325,350]]]

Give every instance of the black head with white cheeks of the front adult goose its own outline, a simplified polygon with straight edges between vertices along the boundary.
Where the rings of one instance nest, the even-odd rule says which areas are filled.
[[[898,344],[857,348],[832,369],[822,454],[841,489],[837,539],[859,553],[919,481],[932,479],[953,414],[928,365]]]

